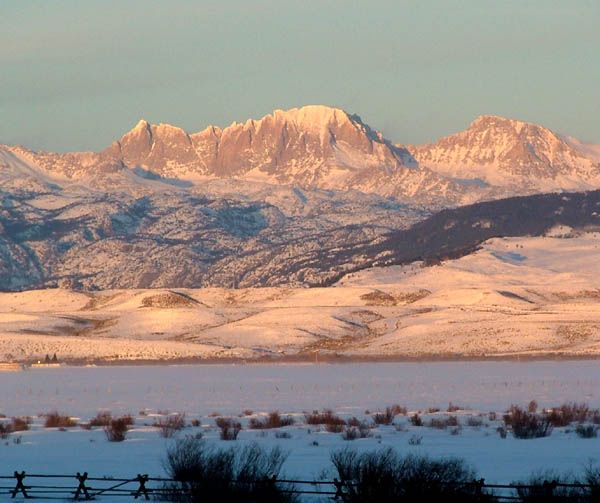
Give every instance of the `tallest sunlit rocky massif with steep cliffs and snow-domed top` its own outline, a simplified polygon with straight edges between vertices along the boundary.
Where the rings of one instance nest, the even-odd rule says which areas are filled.
[[[358,116],[326,106],[275,110],[259,120],[198,133],[140,121],[105,154],[164,176],[244,177],[340,188],[365,169],[389,175],[408,152]]]

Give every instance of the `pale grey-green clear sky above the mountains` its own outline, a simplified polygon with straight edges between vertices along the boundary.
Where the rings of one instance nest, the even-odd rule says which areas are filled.
[[[478,115],[600,143],[598,0],[0,0],[0,143],[100,150],[325,104],[398,143]]]

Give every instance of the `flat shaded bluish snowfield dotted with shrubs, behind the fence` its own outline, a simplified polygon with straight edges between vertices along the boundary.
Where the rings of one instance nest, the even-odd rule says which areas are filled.
[[[512,403],[526,405],[532,399],[541,407],[565,401],[599,407],[600,365],[572,361],[129,366],[7,373],[0,375],[0,413],[7,416],[57,409],[86,420],[108,409],[137,417],[123,443],[108,442],[101,429],[45,429],[42,419],[36,418],[30,431],[0,443],[0,471],[161,475],[165,449],[173,440],[162,438],[151,426],[156,419],[152,414],[159,409],[185,412],[188,422],[200,420],[201,426],[187,427],[180,437],[202,432],[207,441],[223,446],[254,440],[264,446],[280,445],[289,452],[285,471],[291,476],[317,477],[330,466],[330,452],[344,446],[360,450],[392,446],[402,453],[459,456],[488,482],[510,482],[546,468],[579,471],[600,458],[600,439],[580,439],[572,428],[555,428],[551,436],[535,440],[518,440],[510,434],[502,439],[496,432],[500,420],[490,420],[489,411],[502,413]],[[432,417],[446,416],[450,401],[466,409],[455,413],[462,424],[458,434],[452,434],[452,428],[412,426],[408,417],[397,416],[399,427],[379,426],[371,438],[350,442],[304,424],[304,411],[324,407],[343,418],[368,421],[372,420],[365,409],[392,404],[405,405],[410,412],[439,407],[441,412],[423,415],[427,424]],[[244,409],[252,409],[254,417],[273,410],[293,415],[296,424],[284,429],[291,438],[277,438],[276,430],[244,428],[237,443],[219,440],[209,415],[237,417]],[[150,415],[140,415],[142,410]],[[469,417],[483,424],[468,426]],[[247,417],[239,420],[247,425]],[[12,440],[16,436],[20,443]],[[415,437],[422,437],[420,445],[409,442]]]

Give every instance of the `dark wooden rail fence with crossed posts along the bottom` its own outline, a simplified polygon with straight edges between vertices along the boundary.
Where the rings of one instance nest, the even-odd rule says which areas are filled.
[[[54,484],[52,483],[54,481]],[[230,481],[231,484],[273,484],[282,492],[311,497],[321,496],[330,501],[351,501],[352,494],[358,485],[352,482],[333,480],[293,480],[266,478],[259,481]],[[456,484],[450,484],[456,487]],[[66,500],[85,501],[102,499],[103,497],[122,497],[129,499],[154,500],[167,499],[168,496],[185,496],[189,493],[181,481],[150,477],[137,474],[133,478],[91,477],[88,472],[77,472],[70,475],[36,474],[25,471],[14,472],[13,475],[0,475],[0,498],[9,496],[12,499]],[[581,489],[588,491],[590,501],[599,501],[600,486],[588,484],[565,484],[556,480],[545,480],[538,485],[486,484],[484,479],[462,483],[460,487],[472,495],[477,501],[523,501],[519,494],[529,491],[536,495],[536,501],[552,499],[557,489]],[[592,500],[592,495],[595,499]],[[579,500],[578,500],[579,501]]]

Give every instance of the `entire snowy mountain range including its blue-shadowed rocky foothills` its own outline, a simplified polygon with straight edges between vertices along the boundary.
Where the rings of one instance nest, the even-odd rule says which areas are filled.
[[[326,284],[402,255],[380,244],[441,209],[600,188],[598,151],[495,116],[394,145],[324,106],[192,134],[140,121],[98,153],[0,146],[0,289]]]

